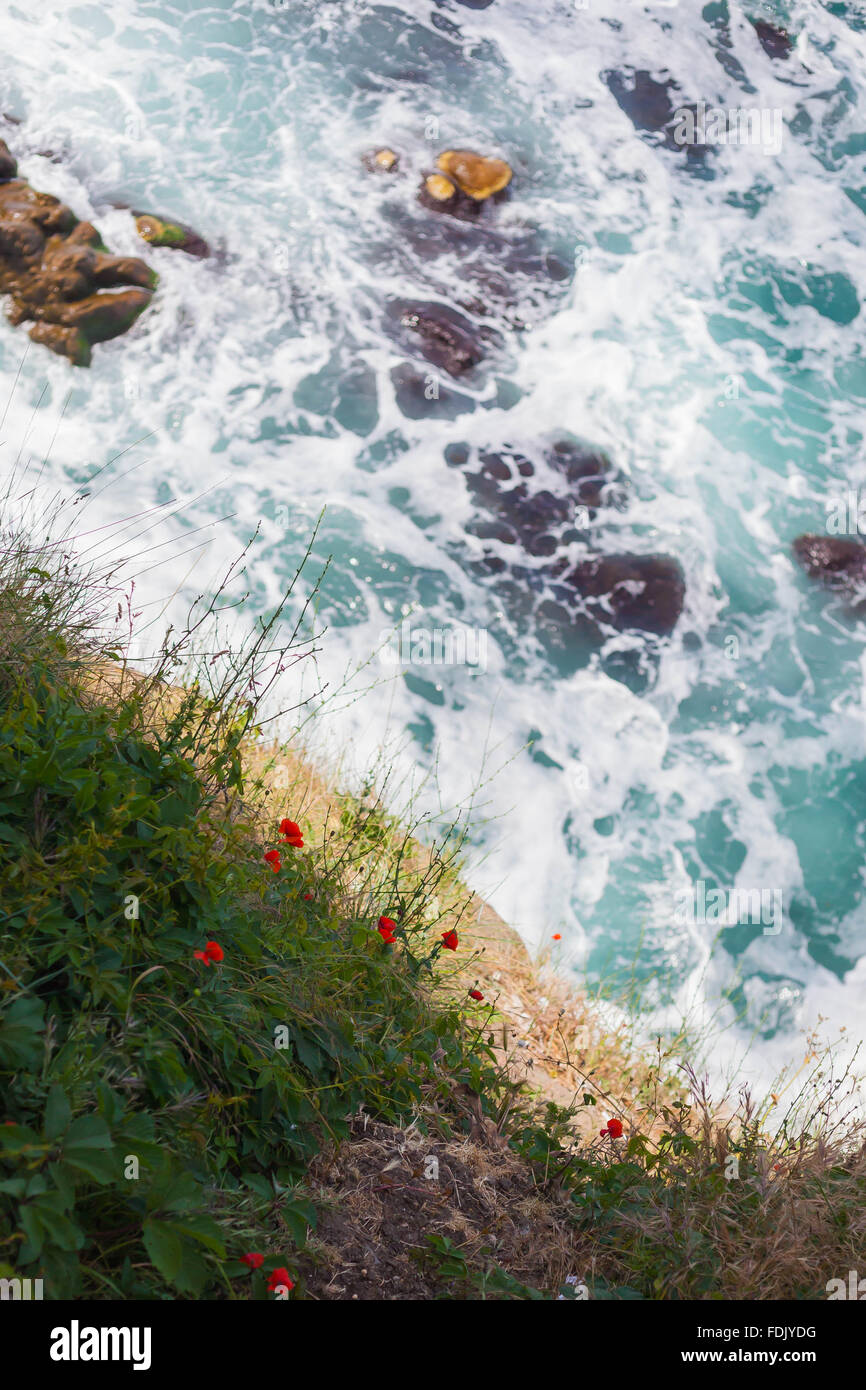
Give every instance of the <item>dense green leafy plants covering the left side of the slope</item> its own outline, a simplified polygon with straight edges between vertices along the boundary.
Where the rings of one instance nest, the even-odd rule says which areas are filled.
[[[165,698],[196,624],[149,680],[99,685],[117,655],[100,596],[50,545],[4,537],[0,1276],[51,1298],[264,1295],[316,1219],[306,1165],[348,1116],[436,1095],[446,1115],[493,1069],[420,987],[411,910],[396,951],[375,930],[396,899],[359,910],[345,852],[264,862],[277,821],[250,813],[240,745],[270,626],[215,688]],[[353,816],[368,855],[361,806],[343,845]],[[209,941],[218,965],[195,955]],[[268,1252],[253,1276],[249,1250]]]

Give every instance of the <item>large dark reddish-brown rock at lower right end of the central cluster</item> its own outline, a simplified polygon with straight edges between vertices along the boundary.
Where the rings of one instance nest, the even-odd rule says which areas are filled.
[[[592,556],[563,578],[595,621],[620,632],[635,628],[666,637],[685,602],[683,567],[667,555]]]

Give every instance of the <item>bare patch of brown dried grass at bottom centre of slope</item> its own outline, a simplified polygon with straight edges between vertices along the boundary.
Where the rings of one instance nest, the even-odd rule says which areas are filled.
[[[313,1165],[310,1191],[322,1212],[302,1261],[313,1298],[478,1297],[491,1265],[552,1297],[574,1272],[569,1195],[539,1193],[495,1129],[445,1140],[359,1116],[352,1141]],[[453,1245],[453,1275],[430,1237]]]

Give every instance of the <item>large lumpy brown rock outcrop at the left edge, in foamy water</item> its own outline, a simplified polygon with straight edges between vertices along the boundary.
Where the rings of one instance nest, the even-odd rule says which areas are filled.
[[[145,261],[108,256],[96,228],[60,199],[24,179],[0,182],[0,292],[11,296],[11,324],[33,322],[33,342],[86,367],[93,343],[132,327],[156,282]],[[136,288],[100,293],[121,285]]]

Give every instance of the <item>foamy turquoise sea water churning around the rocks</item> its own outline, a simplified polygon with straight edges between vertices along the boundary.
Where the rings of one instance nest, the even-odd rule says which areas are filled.
[[[759,15],[799,36],[787,60]],[[4,4],[3,33],[0,108],[22,121],[3,133],[35,186],[118,252],[143,246],[115,203],[220,252],[146,250],[157,299],[89,371],[36,348],[21,364],[0,327],[4,449],[50,453],[43,480],[70,491],[129,449],[92,525],[183,500],[136,542],[161,546],[135,566],[145,614],[256,527],[264,612],[324,507],[300,585],[332,556],[317,670],[334,689],[368,663],[334,742],[363,767],[391,739],[396,785],[432,808],[474,798],[474,883],[530,942],[557,931],[562,969],[634,976],[648,1026],[714,1017],[716,1059],[751,1042],[760,1074],[819,1015],[862,1036],[863,628],[790,552],[866,484],[862,6],[118,0]],[[777,147],[688,161],[616,100],[607,75],[634,71],[676,82],[674,106],[780,113]],[[364,170],[381,145],[400,174]],[[463,146],[514,181],[449,235],[414,190]],[[418,299],[470,304],[491,335],[432,399],[406,388],[430,367],[388,311]],[[516,552],[485,538],[455,446],[510,446],[546,486],[564,434],[623,480],[571,553],[677,557],[671,638],[550,645],[480,574],[485,548]],[[384,664],[410,612],[482,634],[485,660]],[[680,910],[696,884],[780,910],[701,920]]]

